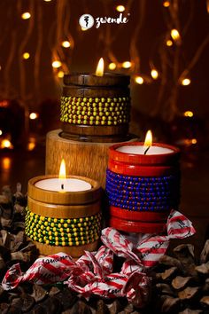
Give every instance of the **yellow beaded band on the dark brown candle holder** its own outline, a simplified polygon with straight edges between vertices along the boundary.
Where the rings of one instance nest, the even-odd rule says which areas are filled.
[[[61,122],[117,126],[128,123],[130,98],[61,97]]]

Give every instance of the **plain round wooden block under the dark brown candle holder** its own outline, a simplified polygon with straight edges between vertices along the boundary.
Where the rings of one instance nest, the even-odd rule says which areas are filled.
[[[109,146],[112,143],[93,143],[69,140],[59,136],[61,130],[52,130],[46,139],[47,175],[58,175],[61,158],[66,161],[67,175],[90,177],[105,187],[105,171]],[[133,138],[125,143],[136,140]]]

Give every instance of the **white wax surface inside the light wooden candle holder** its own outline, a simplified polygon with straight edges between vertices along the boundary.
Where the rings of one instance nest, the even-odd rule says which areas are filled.
[[[35,186],[43,190],[56,192],[79,192],[91,189],[91,185],[86,181],[74,178],[59,179],[56,177],[37,181]]]

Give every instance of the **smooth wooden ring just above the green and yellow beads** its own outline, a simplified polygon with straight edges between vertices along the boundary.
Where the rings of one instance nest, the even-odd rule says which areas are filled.
[[[100,201],[81,205],[53,205],[27,197],[27,206],[34,214],[51,218],[80,218],[92,216],[100,211]]]

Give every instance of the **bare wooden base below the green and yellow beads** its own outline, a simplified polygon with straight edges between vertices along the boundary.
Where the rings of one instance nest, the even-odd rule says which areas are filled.
[[[98,240],[89,244],[84,244],[82,246],[73,247],[56,247],[50,246],[48,244],[39,243],[37,241],[33,242],[35,243],[35,246],[38,248],[40,255],[52,255],[63,252],[75,258],[83,255],[84,251],[96,251],[98,247]]]

